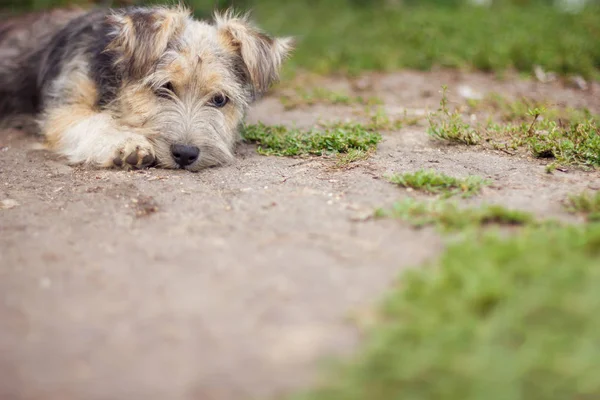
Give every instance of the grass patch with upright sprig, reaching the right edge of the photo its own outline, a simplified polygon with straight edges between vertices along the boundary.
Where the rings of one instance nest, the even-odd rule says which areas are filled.
[[[450,111],[447,88],[443,87],[440,108],[429,116],[429,133],[449,143],[485,144],[509,153],[526,148],[536,158],[554,159],[549,171],[569,165],[600,167],[600,128],[588,110],[548,109],[540,103],[504,102],[498,98],[492,104],[512,122],[465,122],[460,111]],[[477,105],[472,103],[471,107]]]

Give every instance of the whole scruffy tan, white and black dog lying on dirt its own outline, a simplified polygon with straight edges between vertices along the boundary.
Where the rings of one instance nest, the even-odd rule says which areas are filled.
[[[70,163],[198,171],[233,158],[288,38],[231,12],[55,11],[0,22],[0,118],[34,114]]]

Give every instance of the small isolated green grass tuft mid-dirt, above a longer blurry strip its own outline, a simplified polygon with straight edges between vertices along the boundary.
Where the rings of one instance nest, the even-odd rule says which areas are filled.
[[[455,178],[434,170],[419,170],[413,173],[394,174],[387,180],[396,185],[422,190],[427,193],[442,194],[450,197],[457,194],[462,197],[471,197],[478,194],[481,188],[490,182],[479,176]]]

